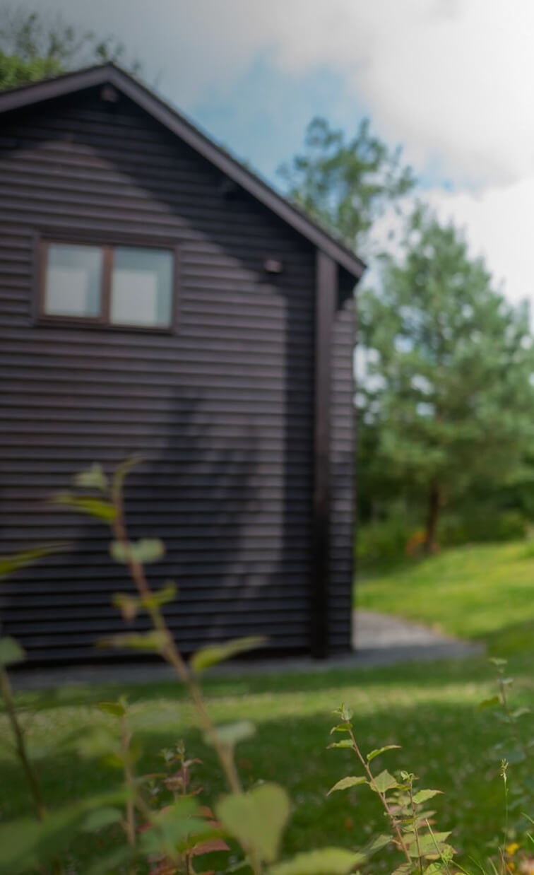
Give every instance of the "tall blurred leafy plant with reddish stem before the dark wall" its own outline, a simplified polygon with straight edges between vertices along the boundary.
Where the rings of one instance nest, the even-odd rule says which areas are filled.
[[[149,825],[149,844],[155,851],[163,854],[163,865],[170,861],[171,868],[167,871],[184,872],[191,875],[194,872],[191,857],[184,855],[186,837],[198,837],[199,830],[203,832],[206,841],[216,841],[222,835],[237,841],[244,851],[243,865],[252,869],[254,875],[265,871],[266,865],[272,865],[271,875],[281,875],[276,869],[279,856],[281,835],[290,813],[290,802],[286,790],[273,782],[260,783],[246,793],[241,788],[239,774],[235,765],[234,749],[243,739],[253,734],[253,725],[249,721],[240,721],[232,725],[218,726],[212,722],[205,707],[198,678],[205,671],[225,659],[243,653],[246,650],[260,646],[264,639],[246,637],[225,644],[206,647],[191,657],[189,664],[177,648],[163,614],[163,606],[176,596],[176,586],[166,584],[162,589],[154,591],[149,585],[145,572],[145,564],[156,562],[164,554],[164,545],[157,538],[142,538],[133,542],[128,536],[128,528],[124,514],[123,486],[128,473],[138,464],[138,459],[127,459],[114,472],[113,478],[107,478],[101,465],[93,465],[88,471],[80,472],[74,485],[78,491],[56,496],[55,501],[66,507],[73,507],[84,514],[95,516],[105,522],[111,529],[113,541],[110,544],[110,556],[115,562],[125,565],[129,576],[135,584],[135,594],[118,592],[114,594],[113,602],[122,613],[125,621],[135,619],[138,613],[144,611],[149,615],[152,629],[147,633],[117,634],[102,640],[104,647],[148,649],[159,653],[166,662],[175,669],[178,679],[184,683],[191,701],[195,705],[198,719],[205,732],[205,739],[213,746],[218,761],[224,771],[230,793],[223,795],[214,806],[215,814],[220,823],[217,829],[207,829],[205,821],[198,817],[198,807],[195,801],[188,797],[187,807],[184,799],[175,799],[173,804],[156,815],[150,812],[144,795],[139,792],[138,781],[135,779],[129,758],[129,734],[123,705],[107,704],[108,711],[114,712],[121,722],[121,755],[119,761],[124,769],[127,795],[127,814],[124,821],[131,855],[128,872],[134,873],[135,854],[147,851],[144,843],[137,843],[135,838],[135,813],[133,807],[140,810],[143,819]],[[83,490],[80,493],[79,490]],[[89,493],[89,494],[88,494]],[[102,706],[103,707],[103,706]],[[221,834],[222,830],[222,834]],[[156,837],[156,838],[155,838]],[[285,875],[323,875],[329,872],[331,865],[337,866],[340,875],[350,872],[364,856],[350,854],[343,849],[326,849],[311,851],[299,855],[298,861],[287,861],[281,866]],[[340,861],[343,859],[343,867]],[[158,864],[159,865],[159,864]],[[93,875],[93,873],[91,873]]]

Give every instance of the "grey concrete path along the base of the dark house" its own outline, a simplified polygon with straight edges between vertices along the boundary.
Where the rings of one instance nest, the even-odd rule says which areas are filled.
[[[353,621],[354,652],[324,661],[309,656],[286,659],[234,661],[212,669],[220,676],[280,674],[281,671],[309,672],[329,669],[364,669],[399,662],[431,662],[463,659],[483,653],[483,645],[458,641],[433,629],[400,620],[384,613],[357,611]],[[18,690],[44,690],[66,684],[151,683],[174,678],[170,666],[160,663],[75,666],[58,669],[20,669],[11,674]]]

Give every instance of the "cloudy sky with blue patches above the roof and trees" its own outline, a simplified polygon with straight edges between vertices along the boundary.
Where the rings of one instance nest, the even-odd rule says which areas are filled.
[[[324,116],[400,144],[510,299],[534,297],[532,0],[36,0],[274,185]]]

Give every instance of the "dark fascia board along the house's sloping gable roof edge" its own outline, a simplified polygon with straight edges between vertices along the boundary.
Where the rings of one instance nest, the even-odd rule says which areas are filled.
[[[129,73],[121,70],[115,64],[102,64],[87,67],[74,73],[64,73],[53,79],[13,88],[0,94],[0,113],[9,112],[12,109],[23,109],[33,104],[53,100],[56,97],[71,95],[85,88],[94,88],[99,85],[111,84],[123,95],[135,102],[137,106],[163,124],[165,128],[179,137],[191,149],[198,152],[212,165],[225,173],[228,179],[232,179],[236,185],[251,194],[260,201],[267,209],[281,218],[282,221],[294,228],[299,234],[329,255],[357,281],[364,273],[365,264],[336,241],[335,237],[323,230],[316,222],[302,213],[300,209],[282,198],[273,188],[267,186],[260,177],[246,170],[235,158],[213,143],[198,128],[188,122],[184,116],[172,109],[168,103],[145,88],[136,81]]]

